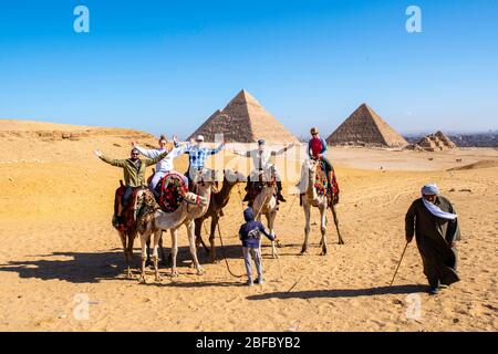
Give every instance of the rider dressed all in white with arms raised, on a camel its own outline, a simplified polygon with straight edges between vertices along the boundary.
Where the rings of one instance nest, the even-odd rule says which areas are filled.
[[[132,143],[133,147],[136,148],[143,156],[145,156],[147,158],[154,158],[165,152],[169,152],[169,154],[165,158],[163,158],[160,162],[158,162],[156,164],[156,171],[148,185],[148,188],[154,192],[154,196],[156,198],[159,197],[159,194],[156,190],[157,184],[167,174],[176,173],[173,160],[175,158],[177,158],[178,156],[180,156],[181,154],[184,154],[190,146],[190,144],[180,146],[178,144],[178,139],[177,139],[176,135],[173,137],[174,148],[172,150],[167,149],[167,147],[166,147],[167,143],[168,143],[168,139],[166,138],[165,135],[162,135],[159,137],[159,142],[158,142],[159,147],[156,149],[145,149],[145,148],[138,146],[138,144],[136,142]],[[187,178],[185,176],[181,176],[181,177],[184,177],[185,184],[188,185]]]

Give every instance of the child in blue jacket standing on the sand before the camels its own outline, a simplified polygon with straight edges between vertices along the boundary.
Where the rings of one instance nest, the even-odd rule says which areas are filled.
[[[274,241],[274,237],[264,230],[261,222],[255,220],[255,211],[252,208],[247,208],[243,210],[243,219],[246,223],[240,227],[239,238],[242,241],[242,252],[243,261],[246,263],[247,271],[247,284],[252,285],[252,268],[251,268],[251,256],[255,260],[256,270],[258,272],[258,278],[255,283],[262,284],[262,267],[261,267],[261,233],[263,233],[270,241]]]

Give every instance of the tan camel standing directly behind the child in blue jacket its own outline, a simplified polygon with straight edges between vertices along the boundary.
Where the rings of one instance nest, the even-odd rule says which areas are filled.
[[[277,198],[274,197],[276,192],[276,181],[268,177],[271,175],[271,169],[269,171],[264,171],[263,175],[267,177],[263,180],[264,186],[261,189],[261,191],[256,196],[255,200],[251,204],[252,210],[255,210],[256,219],[258,221],[261,221],[261,216],[264,215],[267,218],[268,229],[272,237],[274,236],[274,219],[277,218]],[[271,256],[273,258],[277,258],[277,249],[276,243],[278,247],[282,247],[282,244],[276,239],[273,242],[271,242]]]

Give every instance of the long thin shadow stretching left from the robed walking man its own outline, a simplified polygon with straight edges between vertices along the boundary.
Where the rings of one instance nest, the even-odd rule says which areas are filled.
[[[427,291],[427,285],[405,284],[393,287],[377,287],[366,289],[332,289],[332,290],[303,290],[303,291],[279,291],[272,293],[250,295],[248,300],[268,299],[320,299],[320,298],[359,298],[372,295],[411,294]]]

